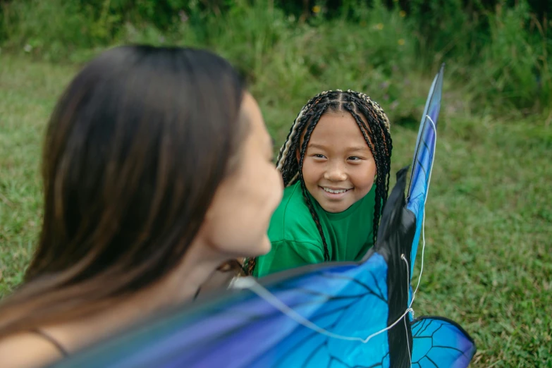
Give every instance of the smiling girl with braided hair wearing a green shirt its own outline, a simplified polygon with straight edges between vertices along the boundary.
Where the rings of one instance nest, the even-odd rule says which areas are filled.
[[[392,142],[381,107],[360,92],[322,92],[300,111],[278,155],[286,186],[269,227],[272,250],[254,276],[357,261],[376,242]]]

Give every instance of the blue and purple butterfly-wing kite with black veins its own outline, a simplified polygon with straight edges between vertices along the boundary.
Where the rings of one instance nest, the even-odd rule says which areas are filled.
[[[147,321],[54,367],[467,367],[476,350],[468,333],[443,317],[412,319],[411,308],[442,88],[443,66],[420,123],[407,197],[403,168],[376,245],[361,262],[302,266],[258,281],[235,278],[226,293]]]

